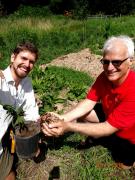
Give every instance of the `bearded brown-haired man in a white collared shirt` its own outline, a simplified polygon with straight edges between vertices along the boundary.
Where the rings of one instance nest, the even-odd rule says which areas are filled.
[[[12,105],[15,109],[22,108],[26,121],[37,121],[39,116],[38,106],[35,101],[31,80],[28,76],[38,59],[38,50],[34,44],[24,42],[14,49],[10,65],[2,71],[0,102],[2,105]],[[6,117],[6,115],[5,115]],[[3,118],[4,119],[4,118]],[[0,179],[15,179],[14,155],[10,154],[9,131],[11,123],[5,118],[0,121]],[[2,176],[2,177],[1,177]]]

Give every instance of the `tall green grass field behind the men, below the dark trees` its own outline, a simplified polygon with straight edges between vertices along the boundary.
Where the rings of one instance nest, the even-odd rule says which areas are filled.
[[[26,13],[30,11],[29,13]],[[69,17],[35,15],[29,8],[20,9],[0,19],[0,66],[8,64],[11,50],[22,40],[34,42],[40,51],[39,64],[83,48],[101,53],[108,36],[126,34],[134,37],[135,16],[118,18],[73,20]],[[24,13],[24,15],[23,15]],[[33,13],[33,16],[32,16]]]

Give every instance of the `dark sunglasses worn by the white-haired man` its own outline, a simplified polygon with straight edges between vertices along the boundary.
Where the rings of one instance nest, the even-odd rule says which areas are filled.
[[[126,61],[129,57],[127,57],[126,59],[123,59],[123,60],[107,60],[107,59],[101,59],[100,62],[103,64],[103,65],[109,65],[110,63],[112,63],[113,66],[115,67],[119,67],[124,61]]]

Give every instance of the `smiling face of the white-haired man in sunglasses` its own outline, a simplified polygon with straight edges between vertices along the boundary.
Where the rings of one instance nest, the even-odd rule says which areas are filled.
[[[115,42],[111,49],[104,52],[103,60],[111,61],[103,65],[107,79],[116,86],[120,85],[126,79],[131,65],[127,47],[122,42]],[[125,61],[120,66],[115,66],[112,64],[115,60]]]

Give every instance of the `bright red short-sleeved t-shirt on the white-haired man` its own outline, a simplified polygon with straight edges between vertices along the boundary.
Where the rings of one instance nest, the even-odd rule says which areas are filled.
[[[102,72],[87,94],[93,101],[101,101],[106,121],[119,129],[119,137],[135,144],[135,72],[130,71],[126,80],[113,87]]]

